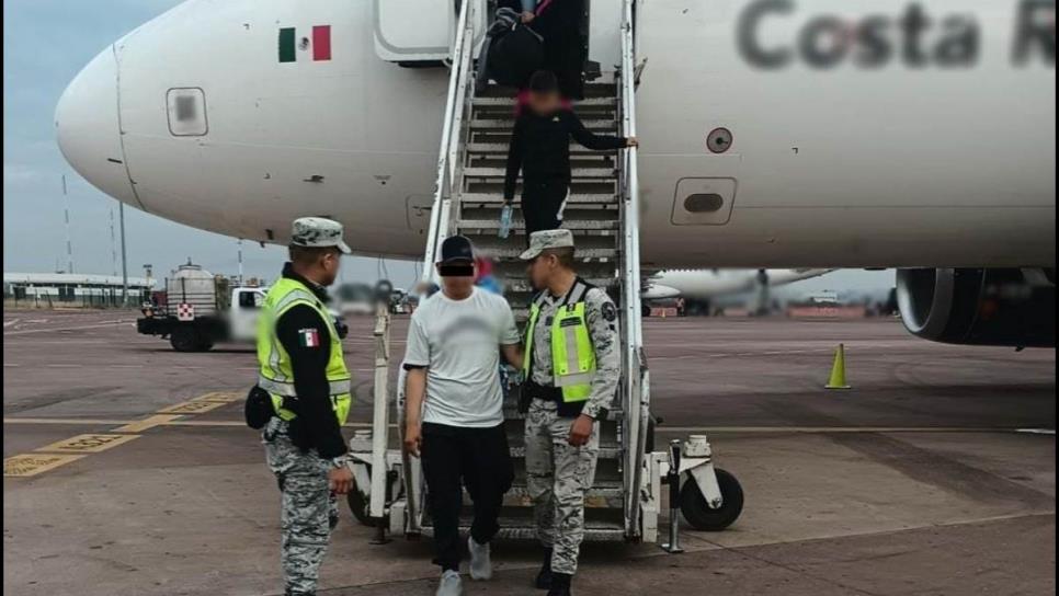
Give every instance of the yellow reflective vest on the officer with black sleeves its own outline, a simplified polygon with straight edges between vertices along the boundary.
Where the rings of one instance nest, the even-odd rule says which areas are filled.
[[[272,405],[281,419],[295,417],[294,412],[283,408],[284,399],[297,398],[297,393],[294,390],[291,355],[276,336],[276,321],[284,312],[297,305],[305,305],[316,310],[328,325],[328,332],[331,335],[331,356],[328,359],[327,377],[331,386],[331,408],[334,409],[334,415],[341,426],[350,415],[352,403],[350,392],[352,378],[345,368],[345,358],[342,356],[342,340],[339,339],[334,323],[331,321],[331,313],[323,302],[305,284],[289,277],[282,277],[269,289],[261,309],[261,317],[258,319],[258,363],[261,365],[258,387],[272,396]]]

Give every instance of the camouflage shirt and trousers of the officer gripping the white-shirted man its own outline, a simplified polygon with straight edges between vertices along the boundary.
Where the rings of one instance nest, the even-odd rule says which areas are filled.
[[[582,283],[580,279],[578,283]],[[532,380],[554,387],[551,322],[562,297],[545,296],[533,334]],[[611,405],[620,375],[617,309],[600,288],[584,295],[585,321],[595,349],[596,371],[592,393],[581,411],[597,417]],[[526,416],[526,483],[534,502],[537,536],[553,549],[551,571],[572,575],[584,536],[584,493],[592,486],[600,451],[600,424],[592,427],[585,445],[567,443],[573,419],[558,415],[558,404],[533,400]]]

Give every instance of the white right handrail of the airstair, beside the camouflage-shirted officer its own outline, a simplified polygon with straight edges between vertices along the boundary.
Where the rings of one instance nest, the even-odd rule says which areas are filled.
[[[636,48],[634,5],[636,0],[623,0],[620,106],[622,134],[636,136]],[[622,387],[623,409],[626,412],[625,470],[631,482],[625,493],[625,531],[629,538],[640,535],[640,479],[646,443],[647,394],[642,374],[644,341],[640,312],[640,195],[637,171],[637,148],[624,151],[622,168],[622,276],[625,309],[623,360],[625,378]]]

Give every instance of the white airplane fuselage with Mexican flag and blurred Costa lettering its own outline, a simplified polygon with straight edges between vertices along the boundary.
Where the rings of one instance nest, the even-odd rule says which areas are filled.
[[[283,243],[292,219],[329,216],[356,252],[420,257],[448,71],[379,57],[379,1],[181,4],[70,84],[64,154],[119,200],[196,228]],[[610,4],[592,12],[604,70]],[[1054,267],[1055,25],[1048,55],[1023,4],[940,0],[919,26],[902,2],[640,1],[644,263]],[[850,47],[840,21],[859,27]],[[277,59],[281,28],[324,24],[328,59],[305,42]],[[201,130],[174,134],[173,93],[201,94]],[[731,144],[715,153],[720,128]],[[696,192],[726,208],[687,211]]]

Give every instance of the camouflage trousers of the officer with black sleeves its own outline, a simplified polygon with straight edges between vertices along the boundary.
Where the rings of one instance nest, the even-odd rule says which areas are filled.
[[[269,468],[276,474],[283,494],[280,527],[286,594],[308,595],[316,594],[320,563],[339,519],[338,502],[328,481],[334,465],[315,450],[296,447],[288,427],[287,422],[273,417],[262,438]]]

